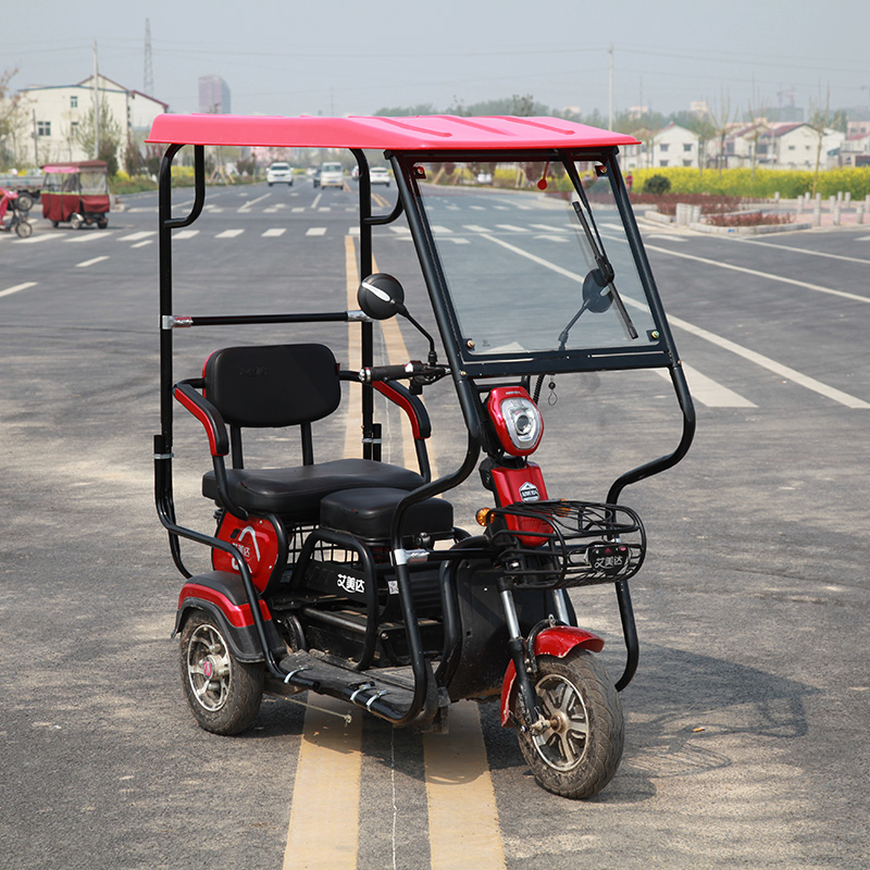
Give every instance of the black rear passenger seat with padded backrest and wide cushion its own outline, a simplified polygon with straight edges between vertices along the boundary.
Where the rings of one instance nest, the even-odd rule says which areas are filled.
[[[369,459],[314,462],[311,423],[328,417],[341,400],[338,365],[324,345],[224,348],[209,357],[197,385],[203,388],[203,403],[213,406],[229,425],[233,467],[226,469],[227,492],[247,511],[316,523],[321,499],[330,493],[372,487],[409,490],[424,482],[417,472]],[[245,468],[243,427],[294,425],[301,430],[301,465]],[[221,504],[214,471],[203,476],[202,494]]]

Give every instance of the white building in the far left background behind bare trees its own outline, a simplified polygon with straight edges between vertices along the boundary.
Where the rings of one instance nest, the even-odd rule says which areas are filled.
[[[140,144],[154,117],[169,110],[169,103],[125,88],[104,75],[97,78],[96,89],[94,84],[94,76],[89,76],[77,85],[20,90],[12,129],[3,144],[12,161],[18,166],[40,166],[58,161],[91,160],[94,153],[80,145],[78,129],[86,124],[92,130],[96,95],[100,111],[105,111],[121,128],[116,157],[123,166],[127,145]]]

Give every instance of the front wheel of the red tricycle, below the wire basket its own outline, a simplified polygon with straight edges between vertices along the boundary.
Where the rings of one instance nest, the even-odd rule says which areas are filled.
[[[586,649],[538,656],[535,692],[555,726],[520,732],[520,749],[538,784],[562,797],[592,797],[617,772],[624,742],[619,694]]]

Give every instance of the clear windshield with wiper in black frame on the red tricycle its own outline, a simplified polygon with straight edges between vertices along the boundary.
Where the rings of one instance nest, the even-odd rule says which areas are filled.
[[[575,166],[583,195],[560,163],[421,167],[467,360],[657,344],[611,179]]]

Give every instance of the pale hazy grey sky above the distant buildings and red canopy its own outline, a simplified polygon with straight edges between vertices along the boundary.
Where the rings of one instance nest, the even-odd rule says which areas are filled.
[[[870,107],[870,0],[0,0],[0,73],[14,88],[67,85],[99,69],[192,112],[217,74],[239,114],[446,109],[531,94],[608,113],[694,100],[732,112],[792,101]]]

